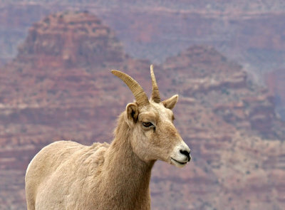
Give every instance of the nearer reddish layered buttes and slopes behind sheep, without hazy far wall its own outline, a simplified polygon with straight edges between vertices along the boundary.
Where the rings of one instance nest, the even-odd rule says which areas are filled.
[[[133,101],[113,68],[150,93],[150,61],[126,55],[95,16],[59,13],[31,27],[19,56],[0,70],[1,206],[25,209],[25,170],[45,145],[112,140],[116,116]],[[180,93],[175,126],[193,161],[182,170],[157,162],[153,209],[282,209],[284,124],[268,91],[205,46],[168,58],[155,73],[162,99]]]

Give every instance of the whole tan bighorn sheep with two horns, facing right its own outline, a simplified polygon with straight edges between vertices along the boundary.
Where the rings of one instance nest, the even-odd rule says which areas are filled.
[[[26,201],[32,209],[150,209],[150,173],[157,159],[176,167],[190,149],[173,125],[178,95],[160,102],[152,65],[152,97],[129,75],[112,73],[135,96],[118,117],[113,142],[90,147],[71,141],[41,149],[26,171]]]

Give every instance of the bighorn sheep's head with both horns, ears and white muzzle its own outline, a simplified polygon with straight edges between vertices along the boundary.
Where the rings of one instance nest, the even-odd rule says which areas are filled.
[[[190,162],[190,149],[177,132],[173,120],[172,109],[178,100],[173,95],[167,100],[160,101],[152,65],[150,74],[152,78],[152,97],[148,100],[142,87],[129,75],[118,70],[112,73],[130,88],[135,96],[135,103],[129,103],[125,110],[125,121],[132,130],[133,152],[145,162],[160,159],[183,167]]]

